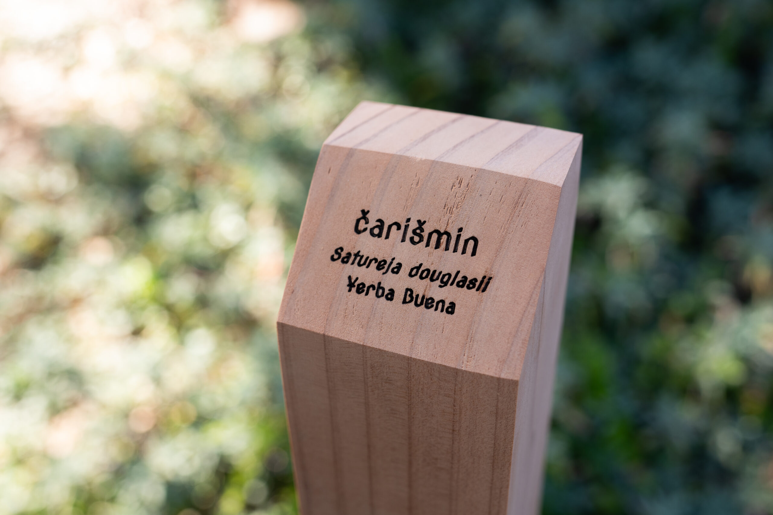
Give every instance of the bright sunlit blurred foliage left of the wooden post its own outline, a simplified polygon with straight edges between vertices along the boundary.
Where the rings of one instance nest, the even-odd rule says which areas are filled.
[[[295,512],[276,310],[318,147],[378,96],[304,23],[0,2],[0,513]]]

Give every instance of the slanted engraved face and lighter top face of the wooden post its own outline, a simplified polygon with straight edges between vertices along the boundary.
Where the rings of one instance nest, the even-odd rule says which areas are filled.
[[[322,146],[279,322],[519,378],[581,141],[360,103]]]

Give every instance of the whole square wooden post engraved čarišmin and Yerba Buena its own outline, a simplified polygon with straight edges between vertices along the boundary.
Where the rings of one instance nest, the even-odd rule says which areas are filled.
[[[582,136],[363,102],[278,320],[304,515],[533,515]]]

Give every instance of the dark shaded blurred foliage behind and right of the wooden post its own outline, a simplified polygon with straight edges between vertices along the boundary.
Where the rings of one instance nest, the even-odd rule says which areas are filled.
[[[405,102],[585,135],[544,512],[773,513],[773,5],[333,5]]]

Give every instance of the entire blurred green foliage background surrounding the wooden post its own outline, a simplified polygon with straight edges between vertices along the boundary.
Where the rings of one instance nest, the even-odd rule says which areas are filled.
[[[274,321],[384,100],[585,135],[543,513],[773,513],[773,4],[0,0],[0,514],[296,513]]]

